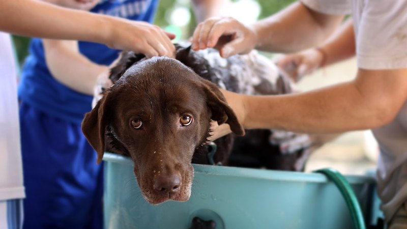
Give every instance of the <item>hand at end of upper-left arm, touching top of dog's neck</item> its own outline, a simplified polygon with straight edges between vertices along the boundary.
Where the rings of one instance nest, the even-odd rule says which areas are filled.
[[[132,50],[152,56],[175,57],[175,46],[171,39],[175,34],[143,21],[110,18],[105,44],[114,49]]]

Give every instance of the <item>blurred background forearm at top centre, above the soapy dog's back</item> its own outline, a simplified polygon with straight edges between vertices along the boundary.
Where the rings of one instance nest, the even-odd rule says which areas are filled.
[[[192,0],[192,8],[197,22],[202,22],[210,17],[226,16],[229,0]]]

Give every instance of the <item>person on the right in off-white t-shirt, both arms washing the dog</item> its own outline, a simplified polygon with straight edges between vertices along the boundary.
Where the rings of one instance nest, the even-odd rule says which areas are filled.
[[[211,18],[197,26],[192,48],[215,47],[223,57],[253,48],[296,52],[322,43],[350,13],[358,64],[354,80],[293,95],[222,92],[246,129],[372,129],[380,146],[377,191],[388,228],[407,228],[406,1],[301,0],[250,26]],[[213,138],[230,132],[227,125],[213,128]]]

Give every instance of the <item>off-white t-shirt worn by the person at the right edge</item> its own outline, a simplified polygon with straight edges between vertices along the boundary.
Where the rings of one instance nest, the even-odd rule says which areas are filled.
[[[322,13],[352,13],[359,68],[407,68],[406,0],[301,1]],[[377,163],[377,191],[389,221],[401,204],[407,202],[407,102],[392,123],[372,131],[381,152]]]

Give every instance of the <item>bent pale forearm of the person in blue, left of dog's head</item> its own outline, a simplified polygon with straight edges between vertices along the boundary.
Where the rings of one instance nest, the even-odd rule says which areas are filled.
[[[80,54],[76,41],[44,39],[43,44],[52,76],[72,90],[93,95],[98,75],[108,67],[97,65]]]

